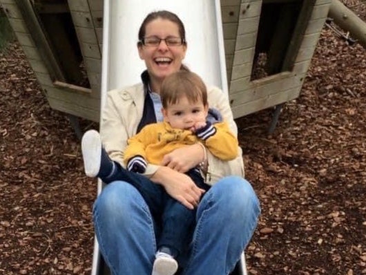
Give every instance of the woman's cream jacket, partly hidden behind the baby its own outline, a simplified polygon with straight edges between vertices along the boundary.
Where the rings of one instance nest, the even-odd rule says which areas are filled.
[[[238,128],[233,120],[233,113],[229,105],[229,99],[219,88],[208,88],[208,101],[210,108],[220,111],[223,120],[229,123],[232,133],[238,135]],[[124,149],[128,138],[135,135],[137,126],[142,118],[144,109],[144,86],[142,83],[122,89],[108,91],[106,106],[102,111],[100,133],[102,142],[112,160],[124,166]],[[214,184],[224,176],[244,177],[244,163],[242,149],[239,148],[235,160],[222,161],[215,158],[207,150],[208,171],[206,183]],[[151,177],[159,166],[148,164],[145,176]]]

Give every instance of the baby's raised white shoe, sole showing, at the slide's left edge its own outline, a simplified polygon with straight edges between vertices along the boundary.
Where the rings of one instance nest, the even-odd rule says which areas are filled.
[[[99,173],[102,155],[102,141],[97,131],[89,130],[84,133],[83,138],[81,138],[81,153],[83,154],[86,176],[95,178]]]

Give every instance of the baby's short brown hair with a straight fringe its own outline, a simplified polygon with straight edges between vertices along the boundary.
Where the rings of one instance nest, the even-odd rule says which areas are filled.
[[[204,106],[208,105],[206,85],[201,77],[188,70],[179,70],[165,77],[160,89],[163,108],[176,104],[183,96],[191,103],[202,101]]]

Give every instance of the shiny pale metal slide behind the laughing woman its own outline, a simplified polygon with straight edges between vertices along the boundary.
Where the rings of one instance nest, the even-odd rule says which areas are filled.
[[[170,10],[182,19],[188,43],[184,64],[228,93],[220,0],[104,0],[101,108],[107,91],[140,81],[145,65],[137,53],[137,32],[153,10]],[[102,187],[99,181],[98,195]],[[96,238],[91,274],[110,274]],[[244,253],[231,275],[247,275]]]

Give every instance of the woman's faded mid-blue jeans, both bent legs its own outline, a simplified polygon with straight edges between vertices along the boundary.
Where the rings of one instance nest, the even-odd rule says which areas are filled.
[[[178,260],[184,266],[182,274],[229,274],[247,247],[259,214],[249,182],[229,176],[214,184],[198,205],[186,259]],[[93,218],[99,249],[112,274],[151,274],[159,231],[135,187],[122,181],[108,184],[95,202]]]

